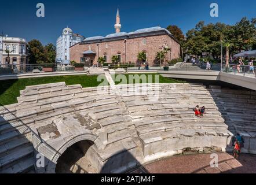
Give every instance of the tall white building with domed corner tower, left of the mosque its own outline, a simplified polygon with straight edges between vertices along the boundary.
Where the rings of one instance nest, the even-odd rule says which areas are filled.
[[[70,64],[70,46],[82,42],[84,39],[84,36],[74,34],[72,29],[64,28],[62,35],[57,39],[56,63]]]

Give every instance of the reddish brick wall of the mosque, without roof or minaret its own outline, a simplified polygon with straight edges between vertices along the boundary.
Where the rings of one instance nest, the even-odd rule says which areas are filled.
[[[146,39],[146,44],[143,45],[142,40]],[[107,62],[111,62],[111,57],[121,53],[121,62],[137,62],[137,54],[140,51],[147,52],[147,61],[149,65],[152,65],[155,61],[156,52],[159,51],[159,47],[167,43],[171,47],[171,52],[167,54],[167,59],[171,60],[174,58],[180,57],[180,45],[175,42],[174,39],[170,38],[169,35],[160,35],[160,36],[148,36],[145,38],[133,38],[127,39],[127,57],[125,57],[125,40],[111,41],[111,42],[102,42],[99,43],[98,47],[96,43],[93,44],[78,44],[70,48],[70,60],[76,62],[81,62],[81,54],[83,51],[92,50],[96,54],[93,63],[97,64],[98,56],[103,57],[104,53],[107,54]]]

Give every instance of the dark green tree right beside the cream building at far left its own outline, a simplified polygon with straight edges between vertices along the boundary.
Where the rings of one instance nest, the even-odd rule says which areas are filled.
[[[45,63],[47,58],[45,56],[44,47],[39,40],[33,39],[28,42],[28,62],[30,64]]]

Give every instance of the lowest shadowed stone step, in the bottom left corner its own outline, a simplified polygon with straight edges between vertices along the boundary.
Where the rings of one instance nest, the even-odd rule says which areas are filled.
[[[35,173],[35,159],[34,157],[27,158],[17,162],[9,168],[0,170],[0,173]]]

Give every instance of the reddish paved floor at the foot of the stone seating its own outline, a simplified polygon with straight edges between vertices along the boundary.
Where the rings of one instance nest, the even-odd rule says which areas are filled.
[[[217,153],[218,167],[211,168],[211,154],[191,154],[165,158],[135,169],[130,173],[256,173],[256,156]],[[143,170],[144,169],[144,170]]]

